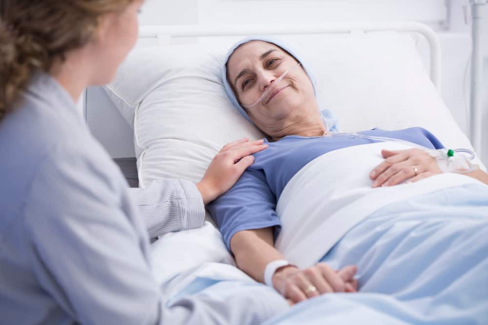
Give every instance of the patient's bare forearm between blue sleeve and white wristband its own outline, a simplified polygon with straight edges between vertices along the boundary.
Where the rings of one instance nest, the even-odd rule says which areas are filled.
[[[266,265],[284,258],[273,246],[273,229],[270,227],[237,232],[230,240],[230,249],[238,268],[263,283]]]

